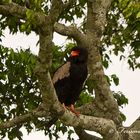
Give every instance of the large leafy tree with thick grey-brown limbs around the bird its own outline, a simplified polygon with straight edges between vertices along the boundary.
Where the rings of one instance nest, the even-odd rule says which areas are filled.
[[[128,101],[122,93],[110,90],[111,81],[118,85],[119,78],[105,75],[103,68],[108,68],[112,53],[120,60],[125,58],[132,70],[140,68],[139,8],[136,0],[1,0],[0,35],[6,27],[13,34],[34,31],[40,46],[38,56],[30,50],[14,52],[0,47],[2,137],[8,134],[11,140],[22,139],[20,128],[24,126],[28,133],[33,127],[44,130],[50,139],[57,139],[59,131],[68,132],[70,139],[73,131],[68,126],[73,126],[81,140],[138,140],[140,133],[128,132],[140,131],[140,118],[128,128],[122,125],[125,116],[119,108]],[[77,19],[82,21],[79,26]],[[71,40],[66,51],[53,43],[54,32]],[[63,109],[51,81],[54,69],[75,43],[89,52],[90,77],[77,102],[79,117]],[[127,48],[131,51],[126,57]],[[59,120],[53,125],[51,120],[56,116]],[[85,129],[102,138],[89,135]]]

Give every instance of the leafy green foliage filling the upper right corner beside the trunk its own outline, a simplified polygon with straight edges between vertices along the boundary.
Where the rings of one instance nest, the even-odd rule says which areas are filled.
[[[114,0],[103,36],[103,45],[107,46],[103,50],[104,57],[108,57],[108,53],[119,55],[120,60],[127,60],[133,70],[140,68],[139,8],[140,3],[136,0]],[[105,67],[108,67],[107,62]]]

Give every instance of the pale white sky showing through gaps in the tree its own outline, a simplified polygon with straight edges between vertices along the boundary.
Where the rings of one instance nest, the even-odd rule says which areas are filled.
[[[9,34],[9,30],[6,29],[2,37],[2,45],[6,47],[16,48],[31,48],[34,54],[38,53],[38,47],[36,47],[38,36],[34,33],[26,36],[25,34],[17,33],[16,35]],[[57,45],[64,45],[66,37],[54,35],[54,42]],[[105,73],[107,75],[116,74],[119,77],[119,86],[112,85],[111,90],[121,91],[129,99],[129,104],[124,106],[121,111],[126,115],[127,120],[124,122],[125,126],[131,125],[139,116],[140,111],[137,109],[140,106],[140,70],[132,71],[125,61],[119,61],[116,56],[111,56],[112,64],[109,66]],[[25,130],[23,130],[25,131]],[[62,136],[62,140],[65,140],[65,136]],[[76,136],[74,136],[77,139]],[[27,135],[23,136],[23,140],[30,139],[41,139],[46,140],[46,137],[41,132],[36,132],[35,130]],[[7,139],[4,139],[7,140]]]

